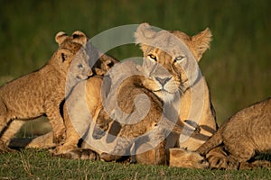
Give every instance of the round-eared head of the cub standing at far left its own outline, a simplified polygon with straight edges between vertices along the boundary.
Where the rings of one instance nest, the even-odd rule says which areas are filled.
[[[62,76],[82,80],[92,75],[89,67],[89,55],[85,48],[88,38],[81,31],[74,31],[72,36],[60,31],[55,36],[59,49],[51,58],[51,63]]]

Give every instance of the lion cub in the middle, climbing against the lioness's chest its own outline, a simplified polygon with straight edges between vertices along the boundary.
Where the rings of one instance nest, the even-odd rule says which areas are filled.
[[[109,75],[111,87],[103,102],[106,106],[99,113],[96,122],[102,132],[110,133],[112,129],[116,130],[116,127],[119,127],[119,130],[113,133],[115,139],[98,138],[107,140],[107,143],[115,142],[111,151],[99,153],[100,158],[112,161],[132,155],[132,160],[137,163],[165,164],[166,137],[170,133],[181,134],[187,131],[192,133],[193,129],[184,126],[184,123],[177,122],[178,118],[175,121],[167,119],[169,112],[164,112],[166,108],[164,103],[142,85],[145,76],[136,69],[135,63],[126,61],[117,64],[111,69]],[[122,76],[125,78],[122,79]],[[176,112],[171,111],[171,115],[173,113],[175,117],[178,116]],[[111,117],[116,121],[113,121]],[[119,125],[116,126],[116,123]],[[198,131],[196,130],[192,136]],[[89,136],[97,138],[96,135],[103,134],[102,132],[99,133],[96,128],[90,131],[92,135]]]

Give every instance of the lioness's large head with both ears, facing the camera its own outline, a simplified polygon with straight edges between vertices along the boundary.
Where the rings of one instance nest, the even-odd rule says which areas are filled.
[[[148,23],[140,24],[135,43],[144,53],[143,85],[164,102],[173,101],[197,79],[197,62],[210,48],[210,38],[208,28],[190,37],[182,31],[154,31]]]

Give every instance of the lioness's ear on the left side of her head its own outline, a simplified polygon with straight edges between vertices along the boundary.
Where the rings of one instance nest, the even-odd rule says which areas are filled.
[[[145,51],[145,44],[154,38],[156,31],[148,23],[141,23],[135,31],[135,44],[140,44],[140,48]]]

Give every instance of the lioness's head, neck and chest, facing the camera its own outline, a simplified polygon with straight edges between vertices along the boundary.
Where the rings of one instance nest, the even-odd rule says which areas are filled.
[[[173,103],[179,121],[195,121],[201,127],[196,137],[168,137],[167,148],[196,150],[217,130],[209,88],[197,67],[210,48],[210,38],[209,29],[190,37],[182,31],[154,31],[148,23],[140,24],[135,32],[145,58],[143,85],[164,103]]]

